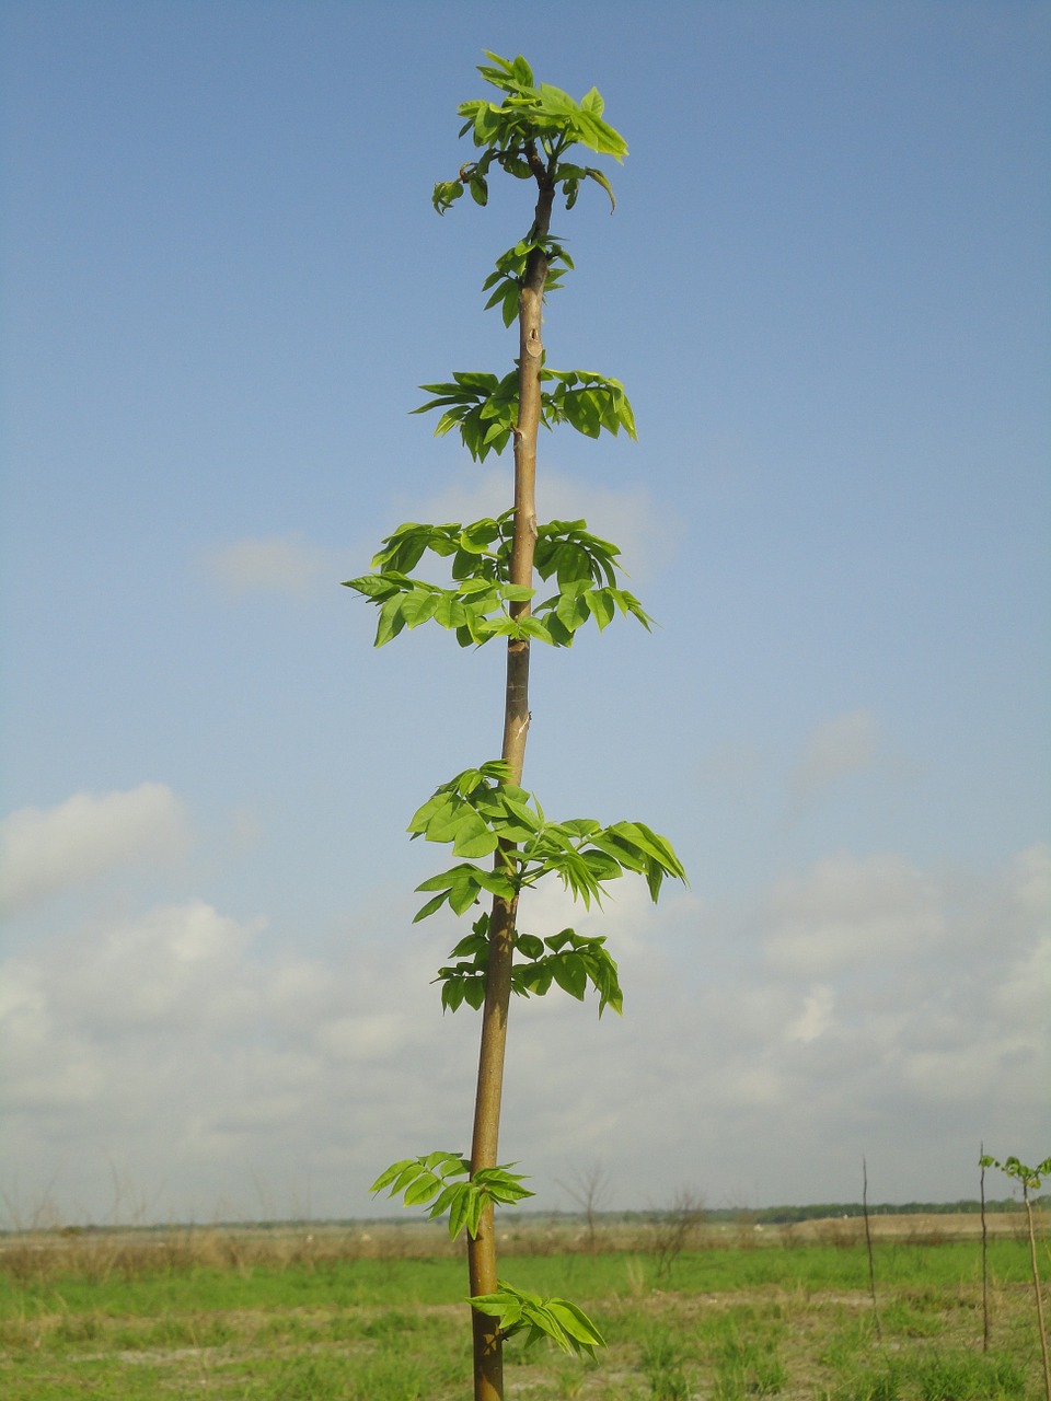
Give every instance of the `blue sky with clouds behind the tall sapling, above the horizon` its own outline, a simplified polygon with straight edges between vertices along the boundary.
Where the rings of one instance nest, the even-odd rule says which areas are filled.
[[[691,876],[576,919],[622,1020],[513,1007],[504,1160],[645,1208],[1045,1154],[1047,4],[1,14],[6,1217],[364,1215],[467,1146],[465,929],[411,923],[444,852],[404,829],[497,752],[503,658],[376,651],[339,581],[509,503],[408,413],[516,349],[481,283],[524,188],[429,202],[482,48],[631,146],[615,217],[555,219],[545,339],[640,441],[545,437],[540,511],[661,623],[537,651],[526,782]]]

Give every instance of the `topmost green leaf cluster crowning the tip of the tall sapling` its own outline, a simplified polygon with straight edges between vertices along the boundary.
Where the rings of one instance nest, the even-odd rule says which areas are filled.
[[[490,60],[478,71],[486,83],[504,94],[500,102],[475,98],[461,102],[460,116],[467,118],[461,136],[471,133],[476,149],[483,151],[478,161],[460,170],[458,179],[439,181],[432,196],[434,209],[444,214],[464,189],[478,205],[489,199],[488,174],[493,164],[516,179],[535,179],[540,185],[562,189],[566,207],[572,209],[582,181],[593,179],[614,202],[608,178],[589,165],[573,165],[562,156],[573,146],[584,146],[600,156],[617,161],[628,154],[628,143],[615,132],[603,113],[605,104],[597,88],[591,88],[576,102],[562,88],[549,83],[537,84],[526,59],[502,59],[485,50]]]

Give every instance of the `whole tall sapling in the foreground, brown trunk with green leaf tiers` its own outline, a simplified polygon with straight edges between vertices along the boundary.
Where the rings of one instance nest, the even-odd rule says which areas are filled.
[[[526,59],[486,57],[478,71],[499,101],[460,105],[465,119],[460,134],[469,133],[476,154],[455,179],[434,186],[433,203],[443,214],[469,191],[476,205],[485,205],[497,172],[521,181],[535,196],[527,231],[500,254],[483,282],[486,308],[497,308],[506,326],[517,322],[518,354],[504,374],[457,371],[450,381],[425,384],[430,398],[413,412],[440,410],[436,434],[455,430],[478,462],[510,447],[511,504],[497,517],[467,524],[402,524],[383,541],[373,572],[348,584],[378,608],[377,646],[425,622],[455,633],[461,647],[493,639],[506,646],[500,758],[441,783],[409,824],[413,838],[451,845],[455,857],[455,864],[418,887],[427,899],[416,919],[446,905],[474,916],[471,932],[436,979],[444,1009],[467,1005],[481,1012],[471,1154],[439,1150],[402,1159],[373,1184],[373,1191],[404,1195],[409,1206],[426,1206],[430,1216],[447,1212],[454,1238],[465,1231],[475,1398],[500,1401],[506,1338],[521,1334],[528,1345],[547,1337],[587,1355],[603,1344],[598,1328],[575,1304],[517,1289],[497,1275],[493,1208],[531,1195],[521,1174],[510,1171],[514,1164],[497,1161],[510,996],[561,988],[583,1000],[591,988],[600,1016],[607,1007],[619,1013],[622,1003],[605,939],[573,929],[547,937],[528,933],[518,919],[520,898],[554,876],[589,908],[593,901],[601,905],[610,881],[636,873],[656,901],[666,877],[685,880],[685,873],[668,842],[645,824],[552,821],[521,787],[533,643],[569,647],[579,629],[594,622],[601,632],[618,614],[650,625],[638,598],[622,587],[619,549],[590,534],[584,520],[544,523],[535,507],[541,425],[568,423],[591,439],[621,429],[635,437],[624,385],[593,370],[551,368],[541,336],[545,297],[573,268],[565,240],[551,231],[555,200],[562,198],[569,210],[582,188],[596,184],[614,205],[608,177],[577,164],[570,153],[579,147],[619,161],[628,147],[605,122],[596,88],[576,102],[559,88],[537,84]],[[413,574],[425,555],[448,560],[447,587]],[[535,576],[545,588],[535,588]],[[475,915],[481,899],[489,909]]]

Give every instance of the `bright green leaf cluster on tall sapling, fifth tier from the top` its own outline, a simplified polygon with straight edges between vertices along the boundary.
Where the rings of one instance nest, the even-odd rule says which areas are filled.
[[[608,881],[625,871],[646,878],[653,901],[667,876],[685,883],[685,871],[670,842],[652,828],[626,821],[603,827],[593,818],[551,822],[535,796],[509,783],[506,772],[500,761],[465,769],[443,783],[415,813],[408,827],[413,838],[451,842],[457,856],[481,857],[496,852],[499,856],[493,869],[465,860],[419,884],[418,891],[433,894],[416,912],[413,923],[446,904],[462,915],[482,891],[513,901],[521,890],[551,874],[584,908],[590,908],[591,901],[601,905]],[[517,843],[514,850],[511,843]]]

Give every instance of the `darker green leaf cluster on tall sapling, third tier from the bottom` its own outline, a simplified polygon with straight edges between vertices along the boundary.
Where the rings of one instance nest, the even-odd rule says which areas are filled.
[[[520,998],[542,998],[552,982],[577,1002],[583,1002],[589,984],[598,993],[598,1016],[612,1007],[619,1016],[624,993],[617,975],[617,964],[610,955],[604,936],[577,934],[562,929],[551,939],[535,934],[514,934],[516,961],[511,965],[511,992]],[[458,962],[439,968],[434,982],[441,984],[441,1006],[448,1012],[467,1003],[478,1012],[485,1002],[485,976],[489,967],[489,916],[486,913],[471,926],[448,955]]]

